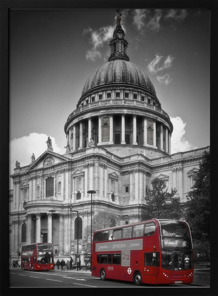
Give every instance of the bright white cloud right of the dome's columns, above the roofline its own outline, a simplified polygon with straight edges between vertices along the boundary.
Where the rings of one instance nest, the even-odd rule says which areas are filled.
[[[171,136],[171,154],[197,149],[198,147],[194,147],[184,137],[186,123],[183,122],[182,118],[179,116],[175,118],[170,117],[170,120],[173,124],[173,132]]]

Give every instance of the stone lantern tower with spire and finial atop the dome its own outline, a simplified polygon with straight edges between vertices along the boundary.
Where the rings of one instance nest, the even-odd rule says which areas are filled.
[[[127,56],[128,42],[124,39],[125,33],[120,24],[122,14],[120,13],[120,9],[117,9],[116,12],[117,25],[113,31],[113,37],[110,41],[110,57],[108,62],[112,59],[124,59],[129,61],[129,57]]]

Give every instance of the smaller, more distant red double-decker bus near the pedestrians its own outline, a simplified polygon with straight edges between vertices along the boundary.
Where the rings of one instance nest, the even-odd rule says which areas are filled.
[[[21,268],[27,270],[54,269],[53,246],[51,243],[35,243],[22,246]]]

